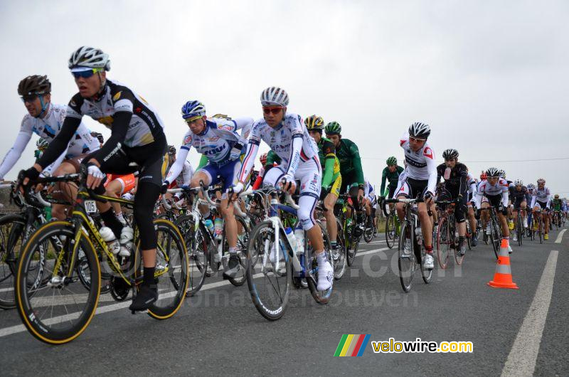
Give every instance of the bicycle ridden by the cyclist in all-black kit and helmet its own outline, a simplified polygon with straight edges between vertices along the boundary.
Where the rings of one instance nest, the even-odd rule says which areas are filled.
[[[452,201],[435,201],[441,206],[439,226],[437,228],[437,259],[440,267],[444,270],[448,266],[450,250],[454,250],[454,260],[457,265],[462,265],[464,255],[459,253],[459,239],[457,219],[454,217],[454,206],[460,203],[460,199]]]

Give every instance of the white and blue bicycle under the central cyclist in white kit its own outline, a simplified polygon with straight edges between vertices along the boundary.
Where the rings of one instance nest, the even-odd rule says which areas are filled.
[[[250,195],[257,191],[247,191],[242,195]],[[262,194],[265,195],[265,203],[269,203],[268,218],[251,230],[246,255],[247,284],[255,308],[265,319],[270,321],[280,319],[285,314],[289,300],[291,274],[295,286],[298,287],[302,279],[305,279],[314,300],[319,304],[327,304],[332,287],[325,291],[317,290],[318,264],[306,231],[304,231],[302,254],[297,254],[296,250],[293,250],[285,236],[285,224],[292,225],[291,228],[294,229],[298,223],[299,206],[288,193],[285,194],[287,204],[279,203],[277,197],[282,196],[280,195],[282,191],[275,188]],[[330,242],[326,230],[319,221],[317,226],[320,227],[324,240],[324,253],[328,260],[331,260]],[[273,258],[270,257],[270,253],[273,253]]]

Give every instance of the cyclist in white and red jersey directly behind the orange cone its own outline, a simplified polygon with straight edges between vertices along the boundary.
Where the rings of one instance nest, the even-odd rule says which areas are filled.
[[[510,239],[510,230],[508,228],[508,222],[506,220],[506,216],[508,214],[508,183],[505,179],[501,178],[501,174],[499,169],[495,167],[491,167],[486,170],[487,178],[484,181],[480,182],[477,188],[477,195],[476,195],[476,207],[477,209],[477,217],[481,216],[481,210],[484,208],[489,208],[493,206],[496,208],[496,212],[498,213],[498,220],[502,229],[502,237],[505,240],[508,240],[508,252],[511,253],[511,245],[509,243]],[[483,197],[486,199],[483,200]],[[497,211],[498,209],[500,211]],[[489,210],[490,211],[490,210]],[[488,211],[484,211],[482,213],[482,223],[489,224],[489,216],[490,213]]]

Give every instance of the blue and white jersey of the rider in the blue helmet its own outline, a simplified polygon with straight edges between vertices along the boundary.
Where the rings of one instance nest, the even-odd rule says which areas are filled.
[[[186,132],[180,149],[189,151],[194,147],[209,161],[223,164],[230,160],[230,151],[235,144],[245,145],[245,140],[237,132],[239,128],[235,120],[208,119],[201,134],[194,134],[191,130]]]

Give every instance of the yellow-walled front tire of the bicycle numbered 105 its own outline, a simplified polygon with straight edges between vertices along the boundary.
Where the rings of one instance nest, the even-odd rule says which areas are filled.
[[[47,321],[43,321],[41,318],[39,318],[38,314],[40,312],[38,312],[38,309],[35,309],[35,305],[32,304],[32,300],[38,298],[39,288],[37,292],[28,292],[29,285],[27,275],[29,265],[34,259],[35,250],[37,248],[40,248],[44,240],[49,240],[50,237],[65,235],[65,237],[70,240],[73,239],[74,233],[74,227],[72,223],[68,221],[53,221],[41,225],[41,227],[39,227],[33,233],[33,235],[31,235],[28,243],[26,243],[21,252],[20,261],[18,262],[18,272],[16,275],[16,305],[18,307],[18,314],[20,315],[24,326],[26,326],[26,329],[28,329],[28,331],[34,337],[36,337],[36,339],[48,344],[65,344],[82,334],[90,324],[92,317],[95,315],[97,303],[99,302],[101,278],[99,260],[95,252],[95,247],[92,245],[91,240],[87,237],[87,235],[85,235],[85,233],[81,232],[79,238],[80,248],[83,249],[85,257],[87,257],[91,271],[91,280],[89,285],[89,294],[85,299],[85,309],[81,314],[78,314],[78,321],[75,323],[71,322],[74,319],[73,317],[75,317],[75,312],[69,312],[67,309],[67,304],[65,304],[65,300],[63,304],[60,305],[65,307],[65,311],[61,312],[62,314],[60,316],[56,316],[55,318]],[[65,245],[69,247],[70,242],[66,242]],[[62,267],[65,268],[66,266],[63,265]],[[63,270],[63,272],[67,271]],[[75,283],[78,283],[78,285],[82,287],[81,292],[83,292],[83,285],[79,282],[79,280],[76,280]],[[53,297],[61,297],[61,292],[72,292],[70,288],[72,284],[73,272],[72,279],[64,286],[65,290],[59,289],[58,287],[50,288],[49,286],[42,287],[42,289],[46,289],[46,293],[48,293],[49,290],[58,289],[58,295],[48,294],[48,297],[51,297],[53,302]],[[33,289],[33,287],[31,287],[31,289]],[[75,299],[73,301],[75,305],[77,305]],[[41,299],[39,305],[41,305]],[[47,314],[48,311],[41,310],[41,312],[43,312],[43,314]],[[58,312],[56,312],[56,314],[57,313]],[[50,314],[53,316],[53,308],[50,311]],[[58,319],[58,317],[62,320],[59,322],[59,324],[62,324],[63,321],[65,321],[64,324],[68,324],[66,328],[53,328],[52,325],[56,324],[55,319]]]

